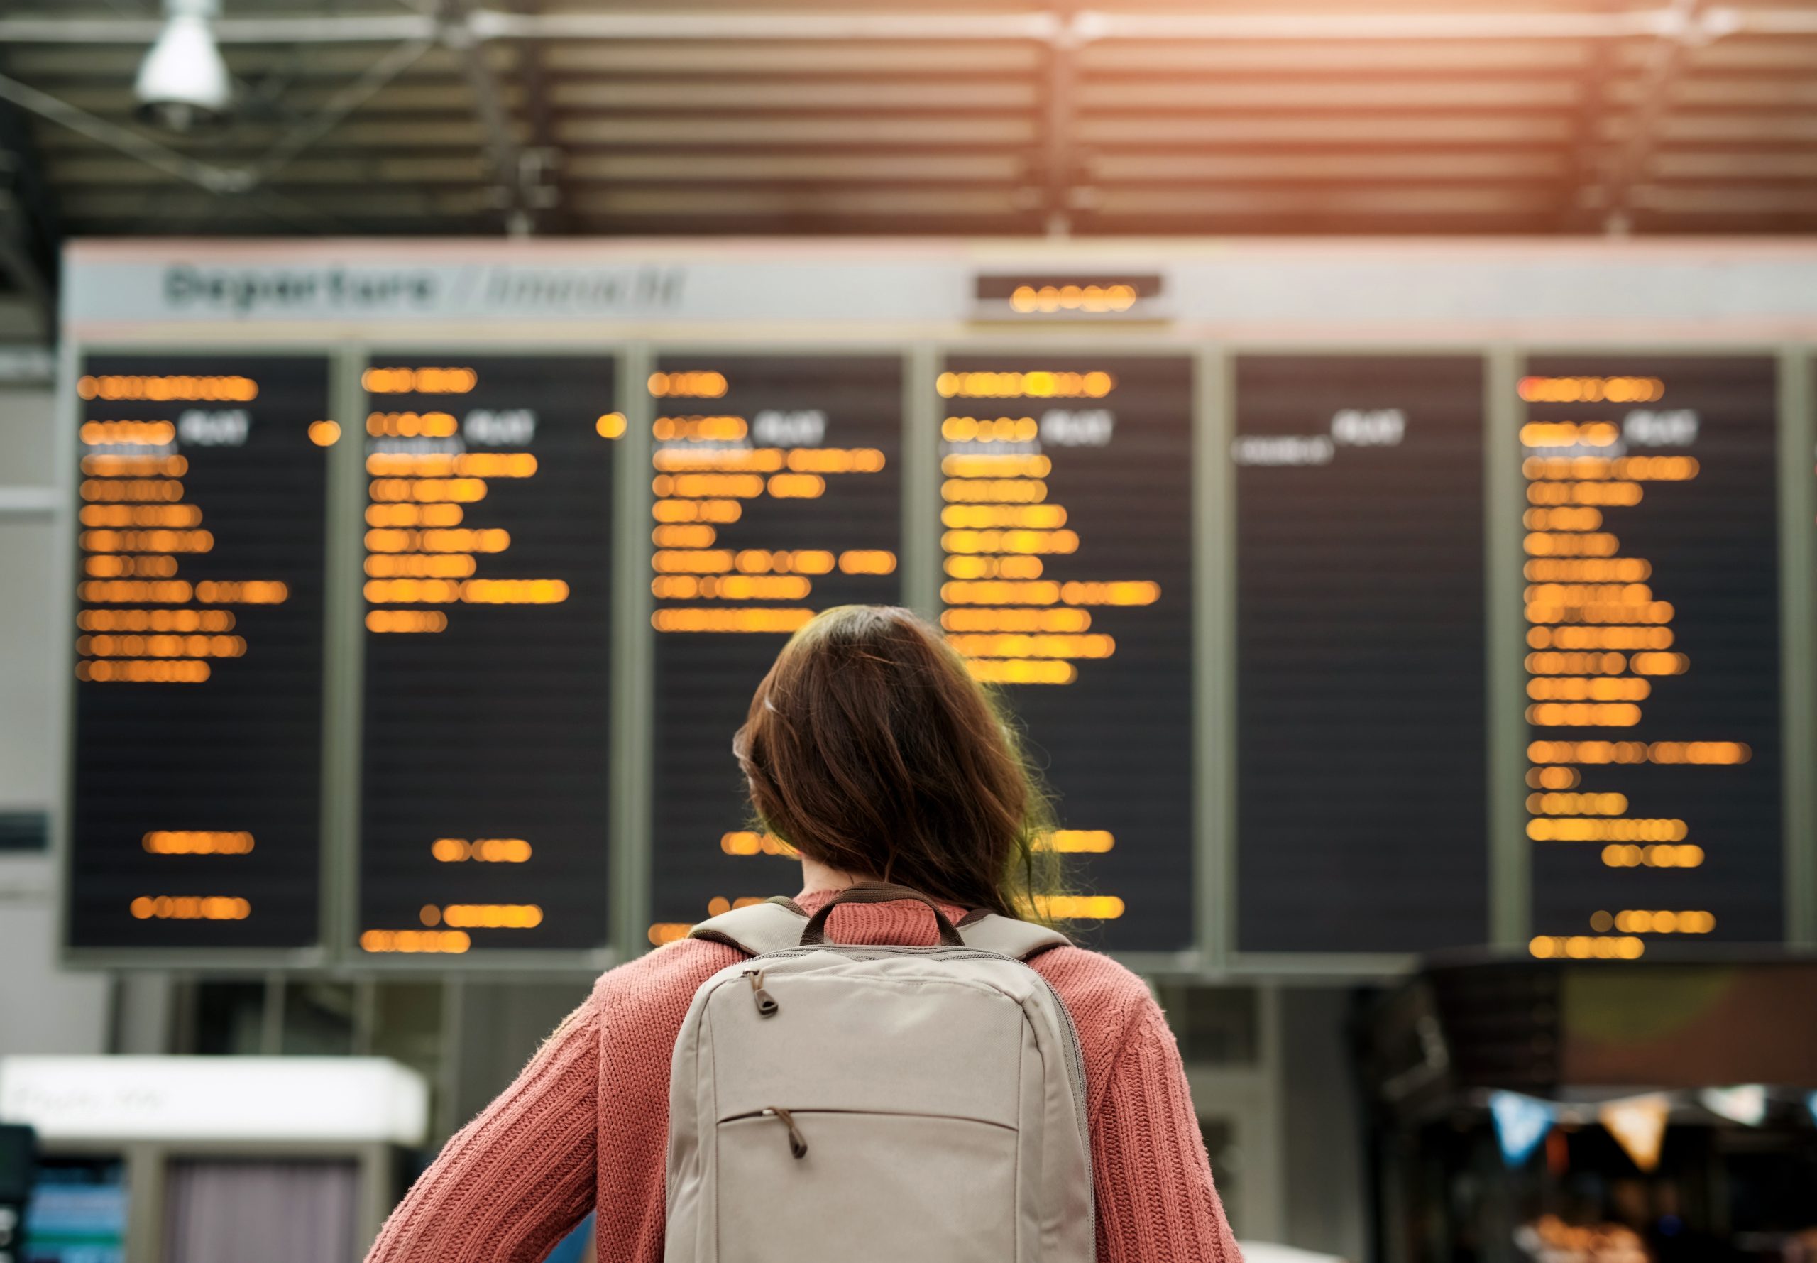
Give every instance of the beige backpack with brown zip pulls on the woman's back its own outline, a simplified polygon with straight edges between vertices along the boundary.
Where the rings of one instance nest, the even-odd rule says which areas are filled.
[[[750,960],[694,996],[669,1079],[665,1263],[1090,1263],[1079,1036],[992,914],[939,947],[825,940],[789,900],[694,927]]]

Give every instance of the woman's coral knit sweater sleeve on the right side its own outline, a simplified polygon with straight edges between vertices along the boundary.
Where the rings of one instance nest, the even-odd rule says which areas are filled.
[[[1143,998],[1092,1119],[1099,1263],[1241,1263],[1179,1047]]]

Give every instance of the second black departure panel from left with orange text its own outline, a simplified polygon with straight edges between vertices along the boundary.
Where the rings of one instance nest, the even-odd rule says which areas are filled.
[[[601,947],[614,363],[376,353],[363,385],[360,947]]]

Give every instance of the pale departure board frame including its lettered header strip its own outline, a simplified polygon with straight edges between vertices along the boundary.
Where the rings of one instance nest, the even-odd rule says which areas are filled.
[[[1813,658],[1817,656],[1817,623],[1813,623],[1817,618],[1817,485],[1813,485],[1810,460],[1813,443],[1817,443],[1817,413],[1813,413],[1817,409],[1817,303],[1810,303],[1810,313],[1804,313],[1802,307],[1786,307],[1793,314],[1770,316],[1766,309],[1755,311],[1746,298],[1728,293],[1724,300],[1728,307],[1721,309],[1724,314],[1704,318],[1704,307],[1695,302],[1655,294],[1643,303],[1639,296],[1619,298],[1610,291],[1606,309],[1597,307],[1588,316],[1559,318],[1546,303],[1521,298],[1517,287],[1497,287],[1483,283],[1483,280],[1510,278],[1514,269],[1521,265],[1523,253],[1543,260],[1568,262],[1570,267],[1563,269],[1559,276],[1572,269],[1581,273],[1579,264],[1588,273],[1617,264],[1637,264],[1632,260],[1613,264],[1594,260],[1579,247],[1554,247],[1537,242],[1481,249],[1454,244],[1414,244],[1406,249],[1412,253],[1415,267],[1430,267],[1434,262],[1437,265],[1434,271],[1412,274],[1408,280],[1410,289],[1419,291],[1403,303],[1406,311],[1414,313],[1412,316],[1390,314],[1375,323],[1375,311],[1365,313],[1345,305],[1334,287],[1348,283],[1346,278],[1355,274],[1346,269],[1379,269],[1383,253],[1392,254],[1401,251],[1401,245],[1236,244],[1230,247],[1190,242],[1177,245],[1179,262],[1170,260],[1161,267],[1168,278],[1170,293],[1179,296],[1177,311],[1172,311],[1167,320],[1125,322],[1116,327],[981,323],[968,313],[970,291],[967,285],[952,287],[948,298],[930,296],[947,283],[945,280],[938,283],[919,282],[928,274],[928,269],[958,269],[956,274],[967,276],[972,271],[987,269],[990,267],[987,260],[992,258],[994,251],[1007,251],[1007,256],[1016,258],[1030,249],[1047,251],[1056,260],[1072,260],[1074,271],[1077,271],[1077,267],[1085,267],[1081,260],[1116,258],[1117,251],[1128,253],[1130,244],[1108,253],[1099,244],[1085,242],[1043,247],[921,242],[907,249],[892,244],[858,247],[850,244],[790,244],[778,253],[756,244],[703,247],[681,242],[627,242],[569,247],[551,242],[538,244],[541,258],[525,256],[521,267],[541,267],[551,273],[554,269],[547,267],[549,258],[561,260],[561,267],[572,258],[580,273],[607,265],[629,265],[614,260],[632,260],[636,267],[656,271],[672,267],[676,276],[685,269],[694,269],[687,276],[687,285],[696,287],[700,300],[669,303],[663,298],[647,309],[620,303],[611,309],[601,307],[598,314],[587,314],[578,307],[561,311],[552,303],[536,311],[529,303],[500,311],[454,305],[442,311],[429,303],[423,311],[409,311],[405,303],[392,309],[391,314],[358,309],[333,314],[318,305],[313,311],[282,314],[282,318],[271,309],[254,309],[247,314],[225,307],[220,311],[191,307],[187,314],[156,314],[156,303],[145,296],[151,291],[133,291],[138,282],[127,271],[129,267],[149,269],[151,264],[114,262],[113,254],[160,260],[158,269],[185,265],[187,256],[180,258],[169,244],[78,245],[80,267],[73,289],[74,298],[65,309],[73,314],[65,316],[69,333],[58,356],[58,416],[65,427],[56,443],[60,487],[74,485],[73,443],[64,442],[64,438],[80,423],[73,407],[71,383],[76,374],[74,365],[80,363],[82,356],[184,353],[187,345],[196,345],[198,334],[205,338],[202,345],[222,354],[327,356],[334,394],[331,414],[343,425],[347,418],[356,416],[354,400],[360,394],[360,371],[367,363],[367,347],[503,356],[611,354],[620,369],[620,411],[629,418],[629,429],[620,440],[618,502],[614,507],[618,522],[614,531],[611,725],[616,751],[609,771],[612,778],[612,820],[609,823],[611,949],[578,954],[472,950],[460,958],[391,956],[374,960],[352,947],[356,843],[352,834],[345,830],[345,823],[349,812],[354,811],[349,807],[349,800],[356,801],[351,789],[358,776],[358,758],[347,751],[358,749],[352,740],[358,736],[358,716],[352,711],[358,705],[360,683],[358,649],[354,647],[354,641],[360,640],[356,625],[360,600],[354,589],[351,598],[343,598],[343,607],[334,605],[333,571],[336,565],[358,569],[360,531],[354,523],[354,527],[343,529],[345,538],[338,538],[336,522],[347,512],[345,507],[331,507],[331,591],[323,611],[323,705],[327,711],[323,743],[336,749],[327,752],[323,763],[322,941],[309,949],[234,950],[231,954],[223,954],[220,949],[116,950],[65,945],[62,958],[71,965],[104,969],[581,974],[645,950],[641,927],[647,916],[641,909],[649,905],[650,778],[649,767],[638,765],[638,756],[643,751],[640,736],[650,721],[647,669],[654,656],[654,631],[649,625],[649,589],[640,580],[647,578],[643,565],[647,563],[649,480],[643,474],[649,471],[652,400],[640,387],[656,354],[696,353],[741,356],[883,353],[901,358],[907,396],[903,409],[901,598],[923,614],[936,616],[939,612],[936,605],[941,580],[939,554],[932,547],[918,552],[918,547],[923,540],[938,540],[938,525],[934,525],[938,494],[928,494],[928,491],[938,489],[939,414],[938,400],[923,389],[923,383],[932,378],[939,362],[947,356],[1077,353],[1116,358],[1188,356],[1196,362],[1197,387],[1192,418],[1196,454],[1190,505],[1196,536],[1192,563],[1196,652],[1190,689],[1194,692],[1192,767],[1197,801],[1194,825],[1194,849],[1199,865],[1196,874],[1197,932],[1194,949],[1188,952],[1121,954],[1119,958],[1143,972],[1201,980],[1381,978],[1401,972],[1412,963],[1408,958],[1397,956],[1241,952],[1234,940],[1230,910],[1237,838],[1234,836],[1234,821],[1225,820],[1232,807],[1230,789],[1234,785],[1232,760],[1225,756],[1232,736],[1225,712],[1234,705],[1236,683],[1230,634],[1236,618],[1234,594],[1230,592],[1236,538],[1234,523],[1226,522],[1230,511],[1228,478],[1234,472],[1228,462],[1228,440],[1234,433],[1228,378],[1236,358],[1259,354],[1379,354],[1386,358],[1455,354],[1479,356],[1484,363],[1488,391],[1484,405],[1484,425],[1488,427],[1484,434],[1484,547],[1488,556],[1484,563],[1490,567],[1484,596],[1490,607],[1490,631],[1484,643],[1490,667],[1490,821],[1484,847],[1490,852],[1492,932],[1490,941],[1477,947],[1517,956],[1526,956],[1532,880],[1530,843],[1524,836],[1526,814],[1519,792],[1526,743],[1521,714],[1526,703],[1521,671],[1524,643],[1519,640],[1524,625],[1519,622],[1519,582],[1497,582],[1510,572],[1510,562],[1514,563],[1512,571],[1517,572],[1521,560],[1519,512],[1508,512],[1512,505],[1521,503],[1523,496],[1519,452],[1510,454],[1504,451],[1506,445],[1497,442],[1499,433],[1504,433],[1510,423],[1514,427],[1519,423],[1515,420],[1519,402],[1512,387],[1523,374],[1528,358],[1541,354],[1775,358],[1779,365],[1779,652],[1784,698],[1781,752],[1786,769],[1781,778],[1786,883],[1786,934],[1782,941],[1788,947],[1817,945],[1817,780],[1806,774],[1817,761],[1817,658]],[[216,253],[233,265],[233,260],[238,258],[289,260],[293,249],[294,244],[253,244],[249,247],[222,244],[220,247],[196,247],[191,253],[202,260],[200,265],[211,265]],[[296,256],[305,260],[298,267],[345,267],[351,276],[360,274],[362,269],[380,267],[374,262],[378,253],[365,247],[362,254],[358,244],[349,244],[345,251],[333,242],[311,249],[313,254]],[[567,249],[578,249],[578,253],[563,254]],[[1141,249],[1172,253],[1172,247],[1157,244],[1143,244]],[[1217,256],[1232,249],[1243,258],[1236,260],[1230,273],[1236,278],[1234,285],[1219,291],[1208,282],[1225,274],[1219,271],[1223,264],[1217,262]],[[1644,249],[1637,249],[1648,258],[1657,254],[1670,267],[1703,258],[1699,253],[1703,247],[1692,244],[1646,244]],[[136,256],[131,254],[133,251]],[[234,254],[234,251],[242,251],[242,254]],[[1721,254],[1721,244],[1715,251]],[[1257,283],[1256,256],[1266,262],[1272,258],[1270,253],[1286,256],[1290,269],[1301,269],[1290,271],[1286,276],[1306,282],[1303,293],[1294,287],[1272,287],[1263,296],[1261,289],[1246,287]],[[1812,265],[1817,267],[1817,253],[1806,253],[1812,254]],[[447,269],[452,269],[456,262],[465,267],[472,260],[480,260],[474,264],[476,267],[494,269],[500,274],[518,267],[505,247],[489,242],[463,242],[454,244],[452,249],[447,242],[405,242],[398,244],[396,249],[387,244],[383,249],[385,265],[391,265],[392,254],[398,267],[414,265],[412,260],[425,258],[429,267]],[[1683,254],[1684,260],[1673,262],[1677,254]],[[954,264],[952,256],[959,256],[963,262]],[[309,264],[311,258],[318,262]],[[1773,258],[1777,260],[1779,254]],[[1802,254],[1797,258],[1802,260]],[[1792,267],[1788,278],[1802,274],[1797,273],[1797,267],[1802,265]],[[740,280],[734,276],[738,267],[756,271]],[[1250,271],[1245,273],[1245,267]],[[1757,264],[1743,260],[1737,267],[1757,267]],[[1446,271],[1443,283],[1432,280],[1439,271]],[[151,274],[158,276],[160,273],[153,271]],[[325,276],[327,273],[318,274]],[[452,271],[443,274],[452,274]],[[1379,271],[1370,274],[1379,274]],[[122,314],[116,318],[98,314],[113,311],[113,307],[102,307],[102,300],[96,296],[96,278],[100,276],[120,276],[125,289],[133,291],[118,298]],[[778,283],[783,276],[789,278],[789,285]],[[790,289],[798,283],[798,276],[801,278],[799,289]],[[725,289],[718,289],[723,278],[732,280]],[[894,287],[881,283],[879,278],[896,278]],[[830,280],[838,283],[829,283]],[[480,283],[491,285],[492,282],[482,273]],[[1790,285],[1792,280],[1784,283]],[[676,285],[681,282],[676,280]],[[825,294],[836,294],[836,298],[823,298]],[[1330,302],[1334,294],[1339,296],[1335,309],[1321,311],[1321,303]],[[113,303],[116,296],[109,293],[105,300]],[[265,300],[260,298],[260,302]],[[1390,307],[1397,302],[1399,296],[1390,302]],[[816,303],[819,305],[816,307]],[[1595,305],[1592,303],[1586,311]],[[1655,311],[1655,307],[1659,309]],[[1455,318],[1454,311],[1459,313]],[[1775,320],[1777,323],[1773,323]],[[345,498],[358,492],[363,478],[358,471],[347,472],[333,463],[334,458],[342,456],[342,449],[349,449],[347,440],[331,452],[331,496]],[[916,465],[925,469],[923,489],[914,483]],[[352,494],[349,503],[362,502],[360,494]],[[912,522],[918,514],[925,518],[919,525]],[[58,592],[58,605],[67,611],[74,609],[74,534],[73,514],[60,511],[56,576],[60,585],[69,587]],[[1514,614],[1514,636],[1506,634],[1508,612]],[[67,676],[69,645],[64,647],[64,654]],[[67,754],[73,738],[73,712],[65,705],[60,709],[58,727],[51,732],[51,740]],[[67,845],[71,763],[67,758],[60,772],[65,801],[64,809],[53,814],[53,849],[67,881],[67,865],[71,863]],[[1510,783],[1515,792],[1508,792]],[[58,916],[64,916],[62,909]]]

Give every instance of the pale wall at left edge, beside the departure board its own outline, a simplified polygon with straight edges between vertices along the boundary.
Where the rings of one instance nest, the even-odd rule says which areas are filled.
[[[0,380],[0,505],[11,491],[53,487],[55,451],[51,385]],[[56,809],[51,734],[69,634],[56,551],[45,511],[0,507],[0,811]],[[56,965],[51,856],[0,852],[0,1056],[104,1052],[109,1001],[104,974]]]

